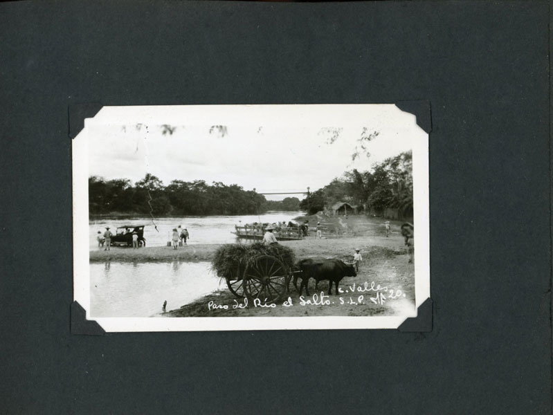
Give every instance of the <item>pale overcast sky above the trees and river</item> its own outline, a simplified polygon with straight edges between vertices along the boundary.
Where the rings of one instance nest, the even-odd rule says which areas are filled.
[[[348,169],[370,169],[375,162],[412,148],[411,118],[379,117],[365,127],[309,125],[226,125],[226,131],[210,124],[172,124],[170,133],[161,123],[91,125],[89,175],[106,180],[129,178],[133,183],[146,173],[173,180],[204,180],[238,184],[257,192],[305,192],[327,185]],[[368,144],[371,156],[352,154],[365,136],[378,131]],[[338,132],[336,138],[336,132]],[[336,140],[332,143],[332,138]],[[287,196],[267,195],[269,200]]]

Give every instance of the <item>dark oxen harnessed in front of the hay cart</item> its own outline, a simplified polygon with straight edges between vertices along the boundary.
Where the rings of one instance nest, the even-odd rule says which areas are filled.
[[[328,294],[332,294],[332,284],[336,285],[336,295],[338,294],[338,284],[343,277],[356,277],[357,273],[352,265],[347,265],[340,259],[308,258],[298,261],[295,267],[302,273],[294,274],[293,286],[298,290],[298,278],[302,279],[300,284],[300,295],[302,288],[305,287],[305,294],[309,295],[309,279],[315,280],[315,289],[318,290],[319,281],[328,279]]]

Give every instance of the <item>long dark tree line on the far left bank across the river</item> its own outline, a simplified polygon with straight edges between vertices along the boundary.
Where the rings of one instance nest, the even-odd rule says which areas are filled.
[[[154,215],[260,214],[267,210],[299,210],[300,200],[267,201],[239,185],[174,180],[169,185],[152,174],[132,184],[127,178],[105,181],[89,177],[89,213]]]

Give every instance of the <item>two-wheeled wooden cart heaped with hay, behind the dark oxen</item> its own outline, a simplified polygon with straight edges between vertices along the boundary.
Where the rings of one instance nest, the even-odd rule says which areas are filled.
[[[295,260],[290,248],[277,243],[228,243],[217,249],[211,268],[236,297],[273,303],[288,293]]]

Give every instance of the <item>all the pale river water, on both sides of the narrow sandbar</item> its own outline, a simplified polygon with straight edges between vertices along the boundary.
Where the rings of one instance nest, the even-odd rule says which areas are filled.
[[[89,243],[98,249],[96,232],[109,226],[115,233],[120,225],[147,225],[144,237],[147,246],[165,246],[172,228],[181,225],[190,232],[190,243],[233,243],[234,226],[239,223],[289,221],[303,212],[268,212],[250,216],[192,216],[154,219],[102,219],[89,223]],[[114,248],[132,249],[132,248]],[[226,288],[210,270],[209,262],[91,262],[91,317],[151,317],[188,304],[194,299]]]

